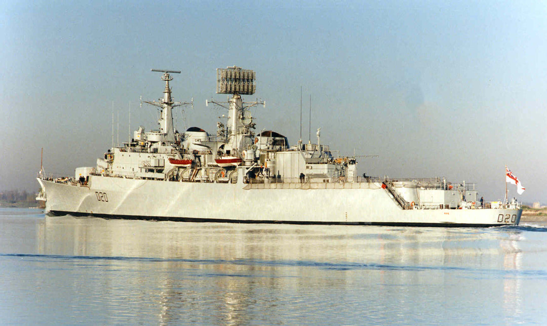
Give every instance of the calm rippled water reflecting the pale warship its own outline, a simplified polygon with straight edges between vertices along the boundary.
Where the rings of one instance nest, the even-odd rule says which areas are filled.
[[[547,324],[547,225],[179,223],[0,209],[0,323]]]

